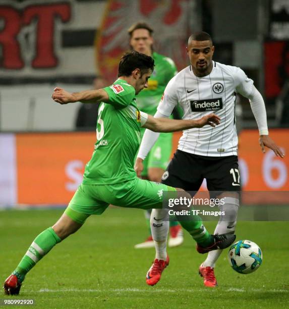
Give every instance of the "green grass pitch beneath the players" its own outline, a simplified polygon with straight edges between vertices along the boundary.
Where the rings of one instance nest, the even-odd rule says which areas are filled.
[[[16,267],[37,234],[62,211],[0,212],[0,280]],[[206,224],[209,231],[215,223]],[[189,235],[169,249],[170,265],[154,287],[145,283],[153,249],[134,249],[147,236],[143,212],[108,209],[90,217],[74,235],[46,255],[26,276],[20,295],[33,308],[285,308],[289,303],[288,222],[239,222],[237,239],[250,239],[263,251],[256,273],[239,275],[223,252],[219,287],[205,288],[198,254]],[[2,298],[9,298],[1,295]],[[11,306],[10,306],[11,307]]]

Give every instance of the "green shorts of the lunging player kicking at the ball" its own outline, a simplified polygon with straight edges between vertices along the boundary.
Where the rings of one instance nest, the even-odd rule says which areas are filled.
[[[83,224],[90,215],[101,215],[109,204],[139,209],[162,208],[163,191],[176,189],[139,178],[108,185],[81,184],[65,213]]]

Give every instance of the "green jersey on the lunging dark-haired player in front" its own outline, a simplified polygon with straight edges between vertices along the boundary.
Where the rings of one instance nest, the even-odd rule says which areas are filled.
[[[136,178],[134,158],[140,144],[141,115],[135,88],[118,79],[103,88],[109,101],[98,110],[97,142],[83,184],[112,184]]]

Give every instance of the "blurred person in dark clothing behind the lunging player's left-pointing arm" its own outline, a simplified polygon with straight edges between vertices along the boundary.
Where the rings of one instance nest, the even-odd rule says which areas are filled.
[[[93,80],[93,88],[101,89],[108,85],[104,77],[98,76]],[[99,103],[81,104],[77,117],[76,129],[77,130],[95,130],[96,121],[98,117]]]

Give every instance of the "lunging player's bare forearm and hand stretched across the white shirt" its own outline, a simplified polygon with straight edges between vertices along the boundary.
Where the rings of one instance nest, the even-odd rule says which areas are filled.
[[[202,128],[205,125],[215,127],[219,123],[220,118],[215,114],[209,114],[197,120],[154,118],[148,115],[148,120],[143,127],[154,132],[176,132],[192,128]]]

